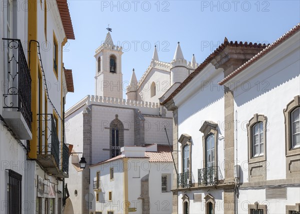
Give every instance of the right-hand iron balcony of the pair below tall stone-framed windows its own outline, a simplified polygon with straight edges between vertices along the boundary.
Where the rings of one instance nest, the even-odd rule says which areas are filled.
[[[218,185],[223,177],[218,166],[198,169],[198,186]]]

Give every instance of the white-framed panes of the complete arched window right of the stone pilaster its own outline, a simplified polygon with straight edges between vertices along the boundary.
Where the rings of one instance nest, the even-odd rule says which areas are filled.
[[[263,122],[260,121],[252,126],[252,157],[263,155]]]

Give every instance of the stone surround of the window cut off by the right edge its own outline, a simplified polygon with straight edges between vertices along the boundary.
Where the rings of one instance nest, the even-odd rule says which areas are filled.
[[[291,112],[300,107],[300,96],[297,95],[290,101],[286,108],[283,109],[284,127],[285,127],[285,156],[293,156],[299,154],[300,147],[291,148]]]

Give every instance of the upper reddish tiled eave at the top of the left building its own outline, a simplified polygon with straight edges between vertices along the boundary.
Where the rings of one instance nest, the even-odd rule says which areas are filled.
[[[64,33],[67,39],[75,39],[72,20],[66,0],[56,0]]]

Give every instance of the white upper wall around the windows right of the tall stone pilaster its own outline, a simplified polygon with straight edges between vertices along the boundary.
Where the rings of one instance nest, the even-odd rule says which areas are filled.
[[[237,120],[240,121],[237,126],[237,159],[243,170],[242,182],[248,181],[246,124],[256,113],[267,117],[266,161],[268,170],[266,179],[285,179],[283,109],[293,100],[294,96],[299,95],[300,54],[298,49],[289,53],[288,57],[285,57],[285,53],[271,53],[275,55],[268,57],[279,58],[267,68],[259,64],[260,69],[253,70],[249,67],[244,70],[243,73],[250,72],[253,76],[249,78],[241,76],[238,79],[241,85],[233,91],[234,109],[237,111]],[[262,61],[261,63],[266,66],[269,62]],[[284,173],[279,173],[278,169]]]

